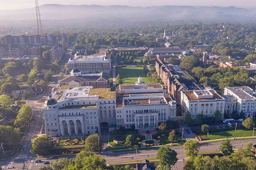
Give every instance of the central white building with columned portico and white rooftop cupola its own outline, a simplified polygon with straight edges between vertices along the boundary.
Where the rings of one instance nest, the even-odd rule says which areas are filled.
[[[176,120],[176,102],[162,85],[144,84],[138,78],[134,85],[119,85],[116,90],[116,125],[136,129],[154,129],[159,122]]]

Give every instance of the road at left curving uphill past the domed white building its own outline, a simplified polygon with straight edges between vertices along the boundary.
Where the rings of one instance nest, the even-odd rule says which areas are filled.
[[[65,63],[67,63],[67,61],[71,57],[73,45],[74,43],[71,43],[70,48],[68,49],[68,53],[61,64],[61,69],[63,70],[65,69],[64,68]],[[32,166],[38,166],[38,169],[39,169],[40,164],[35,163],[35,159],[34,159],[35,155],[30,153],[29,151],[32,149],[32,140],[38,136],[44,135],[39,133],[44,118],[43,118],[43,113],[40,111],[38,106],[42,104],[37,104],[35,103],[35,101],[39,99],[47,98],[49,94],[51,94],[51,89],[53,87],[56,87],[57,85],[58,85],[58,79],[57,77],[53,77],[52,82],[49,85],[49,88],[46,90],[46,92],[43,95],[30,98],[27,101],[28,104],[31,105],[31,107],[34,110],[34,116],[32,118],[34,120],[34,123],[32,125],[29,125],[27,134],[26,136],[24,136],[23,138],[24,140],[21,144],[22,147],[21,147],[20,153],[17,156],[13,157],[12,159],[9,159],[7,161],[0,161],[0,164],[3,170],[6,170],[12,167],[15,167],[15,169],[17,170],[26,170],[26,169],[34,170],[34,167],[32,168]]]

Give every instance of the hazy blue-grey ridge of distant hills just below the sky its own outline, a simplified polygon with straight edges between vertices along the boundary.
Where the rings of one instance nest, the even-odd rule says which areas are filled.
[[[219,6],[99,6],[59,5],[40,6],[42,20],[66,20],[79,18],[134,18],[137,20],[196,20],[207,22],[251,22],[255,20],[256,9]],[[35,8],[1,10],[0,20],[35,20]]]

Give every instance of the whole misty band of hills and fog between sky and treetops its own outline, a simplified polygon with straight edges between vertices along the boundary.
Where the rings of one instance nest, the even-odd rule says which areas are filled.
[[[129,25],[166,25],[183,23],[249,23],[256,21],[256,9],[218,6],[99,6],[58,5],[40,6],[43,27],[103,27]],[[16,22],[13,22],[16,20]],[[0,10],[0,34],[3,30],[35,29],[35,8]],[[2,27],[2,28],[1,28]],[[4,29],[3,29],[4,28]],[[10,30],[9,30],[10,31]]]

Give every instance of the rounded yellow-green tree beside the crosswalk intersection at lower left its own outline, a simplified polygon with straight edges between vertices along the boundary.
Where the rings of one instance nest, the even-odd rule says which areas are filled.
[[[52,142],[47,136],[38,136],[33,139],[32,150],[30,152],[38,155],[46,155],[52,147]]]

